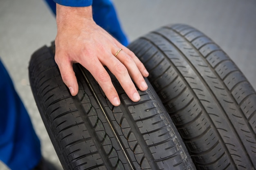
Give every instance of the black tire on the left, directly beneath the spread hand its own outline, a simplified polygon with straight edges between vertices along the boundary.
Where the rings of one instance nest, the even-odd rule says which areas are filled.
[[[54,48],[54,43],[43,46],[32,55],[29,79],[64,170],[195,169],[152,86],[132,102],[110,74],[121,99],[114,107],[92,75],[74,64],[79,93],[72,97],[54,62]]]

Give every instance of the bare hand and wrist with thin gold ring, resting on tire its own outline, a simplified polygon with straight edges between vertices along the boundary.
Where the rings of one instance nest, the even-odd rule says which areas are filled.
[[[135,84],[139,90],[145,91],[148,86],[144,77],[148,76],[148,71],[132,51],[94,22],[91,6],[66,7],[56,4],[56,23],[55,62],[73,96],[78,93],[78,83],[72,65],[80,63],[90,71],[114,106],[119,106],[120,99],[103,66],[107,66],[117,77],[133,102],[139,101]],[[119,49],[123,50],[115,57]]]

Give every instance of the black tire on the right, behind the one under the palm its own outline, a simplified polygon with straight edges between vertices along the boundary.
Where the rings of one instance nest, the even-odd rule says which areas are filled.
[[[128,48],[149,71],[198,170],[255,170],[256,94],[217,44],[175,24]]]

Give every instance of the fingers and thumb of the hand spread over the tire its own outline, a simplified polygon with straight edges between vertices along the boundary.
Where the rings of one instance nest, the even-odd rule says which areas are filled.
[[[119,51],[119,49],[117,51]],[[128,53],[130,53],[130,51],[128,51]],[[130,54],[134,55],[132,52]],[[59,56],[63,57],[63,55],[56,55],[55,61],[58,64],[63,82],[67,85],[70,89],[70,93],[74,96],[78,93],[78,84],[73,71],[72,62],[68,60],[68,57],[60,59]],[[148,72],[144,65],[135,55],[130,56],[124,50],[119,51],[116,57],[111,53],[109,53],[108,56],[109,57],[102,57],[101,60],[94,60],[94,62],[87,62],[86,60],[83,60],[80,61],[80,64],[90,71],[114,106],[119,106],[120,99],[112,84],[111,78],[103,65],[106,65],[117,77],[117,80],[128,97],[133,102],[139,101],[140,96],[132,82],[132,79],[141,91],[145,91],[148,88],[143,77],[148,76]],[[60,59],[61,62],[59,62],[58,59]]]

